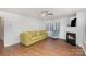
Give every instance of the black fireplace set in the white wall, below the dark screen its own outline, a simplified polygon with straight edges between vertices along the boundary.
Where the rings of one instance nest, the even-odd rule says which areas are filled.
[[[76,34],[74,33],[66,33],[66,42],[76,46]]]

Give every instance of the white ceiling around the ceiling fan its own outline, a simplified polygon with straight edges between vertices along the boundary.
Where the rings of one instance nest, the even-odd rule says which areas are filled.
[[[50,11],[53,14],[50,17],[61,17],[86,11],[86,8],[0,8],[0,10],[28,17],[44,18],[40,14],[42,11]]]

